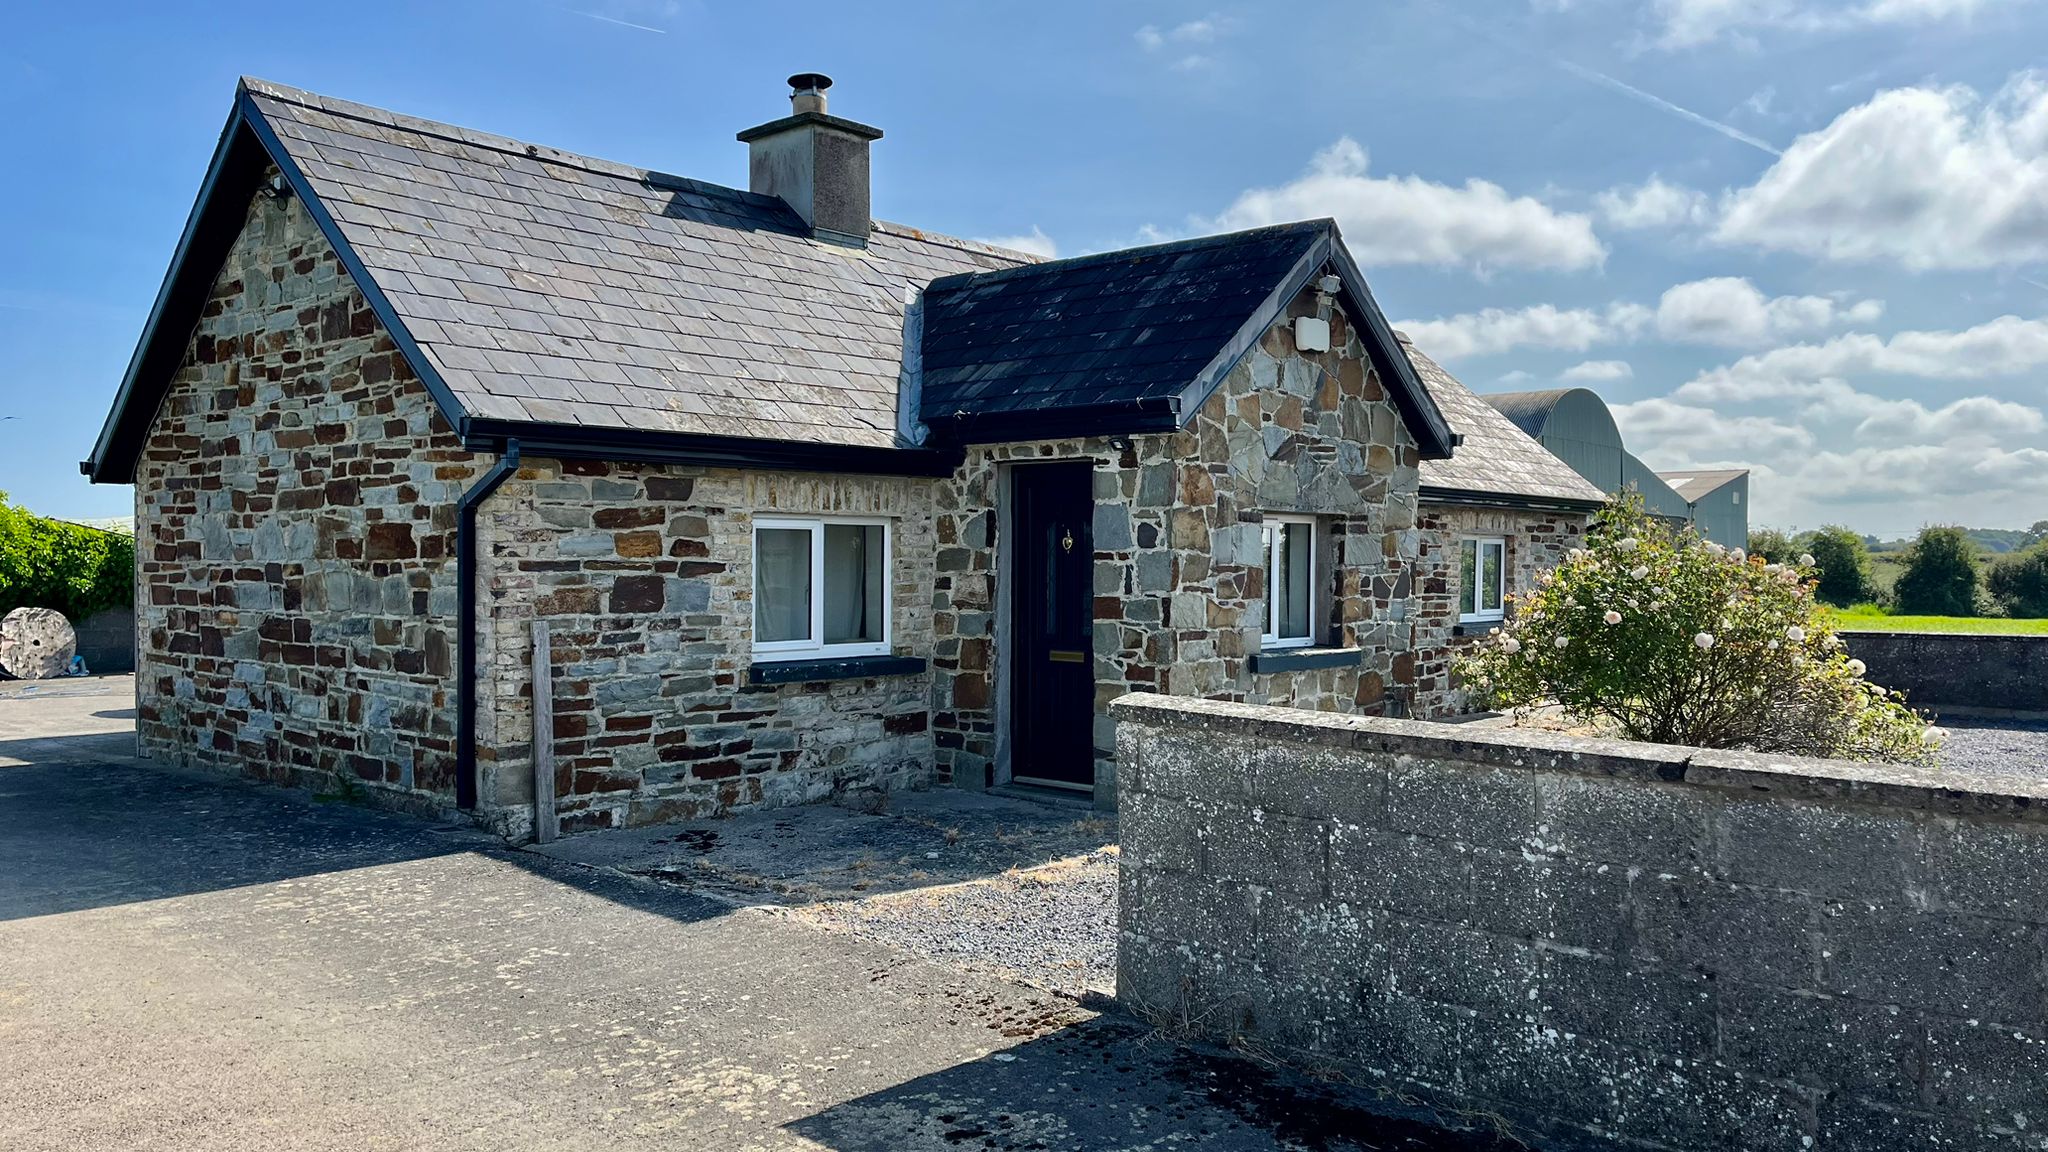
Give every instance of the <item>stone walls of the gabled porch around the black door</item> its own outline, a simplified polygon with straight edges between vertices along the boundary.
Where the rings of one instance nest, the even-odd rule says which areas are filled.
[[[1292,316],[1323,316],[1329,353],[1300,353]],[[1004,467],[1096,465],[1096,781],[1114,781],[1110,701],[1128,691],[1401,711],[1413,683],[1403,572],[1421,549],[1419,463],[1343,312],[1305,291],[1231,371],[1188,428],[1135,437],[989,445],[969,451],[938,502],[932,722],[956,779],[991,779],[999,652],[997,517]],[[1358,650],[1341,668],[1253,672],[1266,615],[1266,512],[1319,519],[1323,646]],[[1028,771],[1018,767],[1016,771]]]

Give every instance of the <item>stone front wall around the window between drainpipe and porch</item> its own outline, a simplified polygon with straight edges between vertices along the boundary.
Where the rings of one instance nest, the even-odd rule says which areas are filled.
[[[479,515],[481,793],[532,806],[532,621],[553,635],[563,830],[932,781],[930,674],[752,685],[754,517],[891,523],[891,642],[932,652],[932,480],[528,459]]]

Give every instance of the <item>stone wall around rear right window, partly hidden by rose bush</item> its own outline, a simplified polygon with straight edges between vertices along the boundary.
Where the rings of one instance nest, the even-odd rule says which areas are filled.
[[[1507,613],[1511,596],[1536,588],[1536,574],[1556,568],[1565,553],[1585,543],[1587,512],[1536,512],[1524,508],[1466,508],[1458,504],[1423,504],[1421,553],[1415,560],[1415,601],[1409,609],[1409,650],[1415,662],[1415,711],[1423,719],[1466,711],[1450,664],[1477,644],[1491,623],[1458,625],[1458,596],[1464,592],[1464,570],[1458,558],[1462,539],[1507,541]]]

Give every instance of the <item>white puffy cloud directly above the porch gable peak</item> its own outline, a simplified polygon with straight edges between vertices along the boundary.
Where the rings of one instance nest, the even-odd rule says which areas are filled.
[[[1374,264],[1440,264],[1479,271],[1595,269],[1608,248],[1593,219],[1556,211],[1499,184],[1438,184],[1419,176],[1370,176],[1366,150],[1341,137],[1315,154],[1298,178],[1251,189],[1200,225],[1217,232],[1331,215],[1352,254]]]

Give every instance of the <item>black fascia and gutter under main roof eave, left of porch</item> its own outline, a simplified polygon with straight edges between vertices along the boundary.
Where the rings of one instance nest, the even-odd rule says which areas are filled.
[[[526,457],[684,463],[758,471],[934,478],[952,476],[965,459],[958,449],[881,449],[485,418],[471,418],[463,435],[463,447],[469,451],[502,451],[506,441],[518,441]]]

